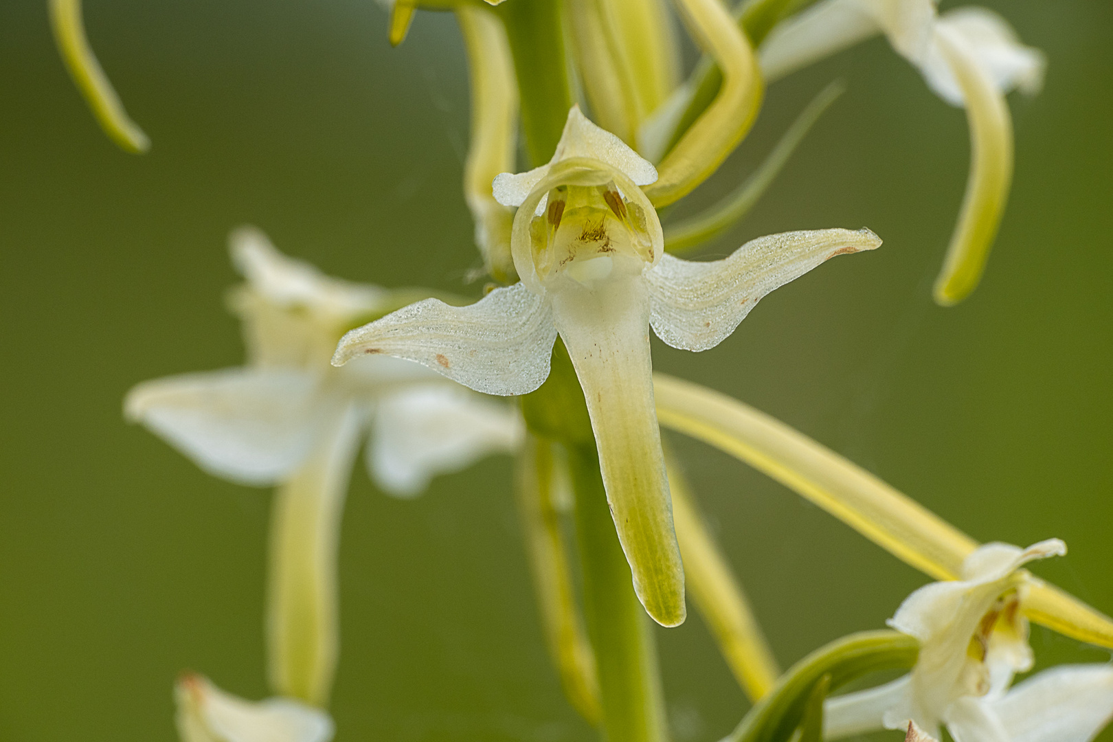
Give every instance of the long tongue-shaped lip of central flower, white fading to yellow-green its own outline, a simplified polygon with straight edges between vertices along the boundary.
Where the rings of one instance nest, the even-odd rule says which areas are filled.
[[[583,387],[634,592],[653,620],[676,626],[686,615],[684,575],[653,408],[649,297],[641,261],[621,260],[613,273],[626,275],[554,291],[553,319]]]

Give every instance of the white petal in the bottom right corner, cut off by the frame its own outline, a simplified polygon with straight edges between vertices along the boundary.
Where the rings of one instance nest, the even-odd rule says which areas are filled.
[[[1009,742],[1090,742],[1113,718],[1113,666],[1046,670],[1016,685],[993,709]]]

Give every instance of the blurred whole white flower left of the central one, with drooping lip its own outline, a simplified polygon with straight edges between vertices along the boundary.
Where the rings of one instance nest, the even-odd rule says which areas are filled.
[[[506,405],[417,364],[368,357],[333,368],[341,334],[400,298],[324,276],[255,229],[235,233],[232,251],[247,278],[232,304],[248,364],[139,384],[126,414],[210,474],[279,485],[267,613],[272,684],[323,705],[336,664],[339,520],[364,433],[370,428],[371,476],[410,496],[435,474],[514,449],[522,426]]]

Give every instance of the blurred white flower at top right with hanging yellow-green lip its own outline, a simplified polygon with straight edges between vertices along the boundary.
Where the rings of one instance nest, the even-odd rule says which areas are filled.
[[[767,80],[884,32],[945,101],[966,108],[971,172],[958,222],[935,284],[956,304],[977,286],[1008,197],[1013,125],[1004,96],[1040,91],[1046,60],[985,8],[936,14],[935,0],[824,0],[778,26],[761,47]]]

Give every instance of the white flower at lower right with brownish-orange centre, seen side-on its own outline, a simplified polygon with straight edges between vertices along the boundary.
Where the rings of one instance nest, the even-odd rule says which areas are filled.
[[[1113,666],[1061,666],[1009,690],[1032,669],[1022,613],[1030,585],[1023,565],[1063,555],[1057,538],[1026,550],[986,544],[963,565],[963,578],[908,596],[888,622],[920,641],[912,672],[892,683],[830,699],[825,739],[914,722],[956,742],[1089,742],[1113,716]]]

